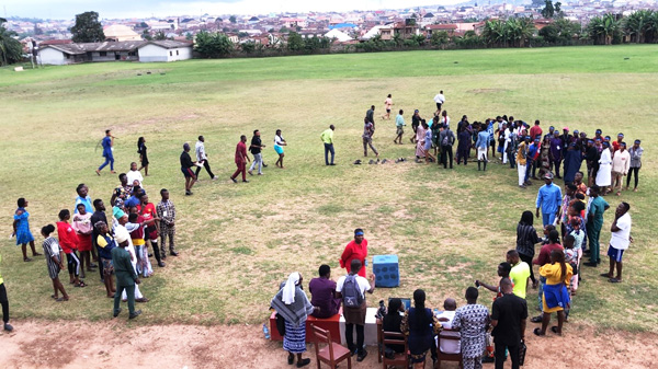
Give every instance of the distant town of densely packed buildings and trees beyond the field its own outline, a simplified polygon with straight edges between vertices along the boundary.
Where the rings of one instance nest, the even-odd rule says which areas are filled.
[[[318,47],[351,47],[354,50],[373,50],[374,42],[378,43],[379,48],[382,45],[384,48],[386,45],[423,46],[423,39],[428,41],[428,45],[434,46],[460,46],[466,44],[467,39],[473,47],[522,47],[527,45],[532,36],[540,36],[535,42],[557,44],[561,39],[561,44],[571,44],[571,39],[580,38],[580,32],[585,32],[592,20],[609,16],[621,22],[622,18],[632,16],[638,10],[649,11],[647,14],[653,14],[654,22],[658,22],[656,1],[582,0],[554,3],[551,0],[533,0],[531,4],[472,1],[453,7],[343,13],[203,14],[126,20],[103,19],[100,14],[104,39],[97,43],[73,43],[71,27],[76,23],[75,19],[8,18],[3,26],[14,33],[14,38],[21,42],[24,53],[38,56],[42,64],[61,65],[110,60],[183,60],[193,57],[200,33],[220,34],[236,50],[245,53],[281,48],[288,43],[291,36],[296,37],[295,42],[298,42],[298,37],[302,41],[328,39],[330,43],[317,43],[320,45]],[[496,22],[504,25],[506,22],[515,22],[514,20],[521,20],[521,27],[526,26],[529,30],[522,30],[520,36],[510,36],[510,39],[491,35],[496,33]],[[624,25],[625,23],[619,23],[619,37],[612,34],[614,30],[603,30],[603,25],[601,34],[592,31],[587,34],[588,39],[594,44],[598,38],[602,44],[615,41],[640,42],[640,38],[642,42],[658,39],[651,35],[640,37],[637,33],[644,31],[634,32],[633,26],[628,26],[631,31],[622,32]],[[548,28],[542,31],[545,27]],[[595,26],[591,28],[595,30]],[[406,43],[405,39],[412,42]],[[387,42],[390,44],[386,44]],[[360,44],[366,45],[359,46]],[[302,45],[304,48],[304,44]]]

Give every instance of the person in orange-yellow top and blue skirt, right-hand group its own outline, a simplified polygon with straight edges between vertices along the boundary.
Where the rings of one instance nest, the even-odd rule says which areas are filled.
[[[574,269],[565,262],[565,252],[563,250],[553,250],[551,252],[551,264],[542,266],[540,275],[546,278],[542,299],[544,315],[542,318],[542,328],[535,328],[533,333],[537,336],[545,335],[546,327],[551,323],[551,313],[557,312],[557,325],[552,326],[551,331],[557,335],[561,335],[561,327],[565,322],[565,309],[571,303],[568,286],[574,275]]]

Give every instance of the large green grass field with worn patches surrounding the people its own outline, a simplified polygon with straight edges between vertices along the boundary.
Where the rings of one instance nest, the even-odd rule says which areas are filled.
[[[362,119],[371,104],[382,114],[392,93],[395,109],[410,120],[419,108],[433,111],[445,91],[453,122],[508,114],[546,129],[595,128],[643,139],[640,191],[624,193],[632,206],[635,243],[625,256],[624,282],[611,285],[585,269],[571,321],[598,327],[658,332],[658,251],[655,219],[658,119],[658,46],[566,47],[454,51],[410,51],[266,59],[191,60],[177,64],[94,64],[13,72],[0,69],[0,270],[16,319],[106,320],[111,303],[101,282],[68,288],[72,300],[57,304],[42,257],[23,263],[9,240],[15,200],[30,200],[32,232],[41,249],[42,226],[71,208],[78,183],[106,203],[116,176],[94,174],[103,130],[116,140],[117,171],[137,161],[145,136],[151,200],[167,187],[179,214],[178,246],[143,282],[151,299],[138,324],[254,323],[268,315],[276,286],[299,270],[305,280],[338,258],[354,228],[364,228],[370,255],[396,253],[401,286],[377,289],[371,304],[387,297],[428,292],[428,304],[446,297],[463,303],[474,279],[495,282],[496,266],[515,244],[523,210],[534,208],[537,185],[520,191],[517,172],[490,165],[444,171],[415,163],[352,165],[360,159]],[[151,74],[147,74],[151,71]],[[141,73],[141,76],[137,76]],[[164,74],[161,74],[164,73]],[[381,122],[381,120],[379,120]],[[326,168],[320,132],[336,125],[338,166]],[[262,177],[232,184],[235,145],[260,129],[265,162]],[[288,141],[285,170],[274,168],[274,130]],[[408,129],[410,131],[410,128]],[[220,181],[202,172],[194,196],[183,196],[179,154],[183,142],[206,137],[211,164]],[[393,122],[379,123],[375,146],[383,158],[412,157],[410,143],[394,146]],[[405,140],[408,142],[409,136]],[[614,208],[620,199],[608,197]],[[610,238],[605,217],[602,252]],[[538,251],[538,250],[537,250]],[[66,277],[64,277],[66,279]],[[490,304],[485,291],[481,301]],[[534,308],[536,291],[529,295]]]

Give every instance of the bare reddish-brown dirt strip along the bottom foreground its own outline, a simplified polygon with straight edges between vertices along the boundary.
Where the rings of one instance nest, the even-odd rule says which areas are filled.
[[[123,319],[12,323],[13,333],[0,334],[0,368],[291,368],[281,344],[264,341],[256,325],[138,326]],[[524,368],[655,367],[655,334],[601,333],[570,325],[565,337],[530,335]],[[314,347],[308,348],[305,357],[313,357]],[[368,351],[366,360],[353,362],[354,368],[381,368],[375,348]],[[457,368],[452,362],[443,367]],[[316,368],[315,361],[307,368]]]

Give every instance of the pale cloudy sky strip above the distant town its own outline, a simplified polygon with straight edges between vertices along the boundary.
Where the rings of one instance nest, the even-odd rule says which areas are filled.
[[[0,0],[0,14],[72,19],[97,11],[102,19],[183,14],[266,14],[270,12],[401,9],[465,0]]]

